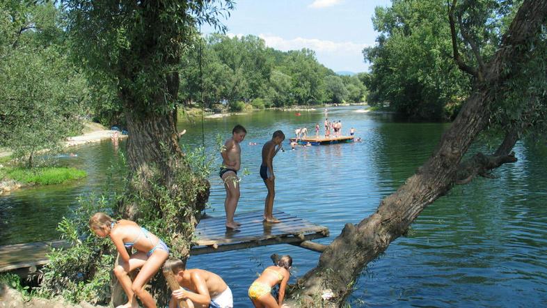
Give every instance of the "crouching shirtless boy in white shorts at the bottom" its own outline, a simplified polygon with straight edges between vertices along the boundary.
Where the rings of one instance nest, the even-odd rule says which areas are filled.
[[[232,291],[219,275],[198,268],[187,270],[180,259],[168,259],[164,269],[171,270],[183,287],[173,291],[169,308],[177,308],[176,300],[190,300],[193,307],[234,307]]]

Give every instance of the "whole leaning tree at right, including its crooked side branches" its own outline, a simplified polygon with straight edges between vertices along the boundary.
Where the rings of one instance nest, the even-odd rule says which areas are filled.
[[[456,4],[454,0],[451,8]],[[491,59],[480,65],[479,69],[470,70],[477,76],[472,94],[451,128],[443,134],[429,160],[397,192],[383,199],[376,213],[356,225],[344,226],[340,236],[320,256],[317,267],[299,279],[297,290],[292,294],[294,298],[301,298],[303,305],[306,305],[330,290],[333,298],[322,305],[340,307],[351,293],[351,285],[363,267],[385,251],[390,242],[404,235],[427,205],[446,194],[455,183],[466,183],[476,175],[487,176],[487,171],[507,162],[515,162],[516,158],[510,151],[523,132],[522,128],[537,125],[545,130],[547,95],[535,89],[537,86],[546,87],[545,66],[535,70],[540,74],[528,78],[525,84],[520,76],[532,66],[537,66],[539,57],[546,54],[546,17],[546,1],[523,1]],[[454,26],[451,36],[454,50],[459,49],[457,41],[463,38],[456,36],[456,33]],[[457,58],[457,52],[454,52],[454,57]],[[518,82],[514,82],[515,77]],[[543,110],[539,112],[541,115],[514,121],[511,128],[506,128],[505,138],[493,155],[478,153],[470,160],[461,162],[477,134],[487,128],[492,118],[498,118],[498,102],[512,98],[514,93],[523,93],[523,85],[532,89],[527,98],[519,100],[526,102],[523,109],[533,111],[540,107]]]

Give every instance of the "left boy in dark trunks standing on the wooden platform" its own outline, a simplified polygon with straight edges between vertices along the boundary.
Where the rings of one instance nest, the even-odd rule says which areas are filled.
[[[226,189],[226,199],[224,200],[224,210],[226,211],[226,228],[235,230],[241,224],[234,221],[235,208],[239,201],[239,178],[237,171],[241,167],[241,147],[239,143],[245,139],[247,131],[241,125],[235,125],[232,130],[232,137],[224,143],[221,150],[222,167],[219,176],[224,182]]]

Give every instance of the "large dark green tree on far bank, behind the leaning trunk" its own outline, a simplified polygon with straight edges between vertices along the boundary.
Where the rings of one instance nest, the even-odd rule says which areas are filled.
[[[376,8],[373,17],[378,45],[363,50],[372,75],[363,76],[374,105],[390,102],[411,120],[442,120],[443,106],[466,98],[470,78],[452,55],[446,1],[393,1]]]

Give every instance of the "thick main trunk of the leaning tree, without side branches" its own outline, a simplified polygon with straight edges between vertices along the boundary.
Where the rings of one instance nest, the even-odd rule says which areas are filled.
[[[489,106],[498,94],[496,88],[510,77],[507,68],[514,68],[516,63],[523,61],[528,52],[527,43],[537,35],[546,15],[547,1],[524,1],[503,38],[502,47],[486,64],[484,83],[475,84],[473,94],[452,127],[443,134],[433,155],[397,192],[381,201],[376,213],[359,224],[344,226],[342,233],[319,257],[317,267],[299,279],[291,294],[292,300],[287,304],[342,306],[352,291],[348,286],[354,284],[365,265],[404,234],[427,205],[450,190],[458,178],[461,157],[489,119]],[[500,148],[504,148],[504,153],[496,154],[506,156],[507,145]],[[321,295],[327,293],[333,297],[321,300]]]

